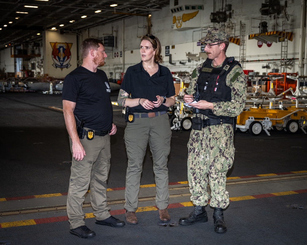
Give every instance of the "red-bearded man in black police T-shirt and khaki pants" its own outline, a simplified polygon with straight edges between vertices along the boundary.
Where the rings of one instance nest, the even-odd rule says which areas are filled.
[[[96,224],[121,227],[124,221],[111,216],[107,205],[110,169],[110,135],[116,133],[106,73],[97,69],[107,57],[103,43],[87,38],[81,43],[83,63],[64,79],[63,112],[72,151],[67,197],[70,233],[81,238],[95,236],[84,223],[82,204],[91,184],[91,205]],[[84,121],[84,125],[82,122]],[[79,124],[78,132],[76,123]],[[79,135],[78,135],[79,133]]]

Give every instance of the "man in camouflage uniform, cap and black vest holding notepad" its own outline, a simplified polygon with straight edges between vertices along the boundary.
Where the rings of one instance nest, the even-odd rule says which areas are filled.
[[[208,28],[207,36],[200,42],[206,44],[204,51],[208,58],[193,70],[188,94],[184,96],[185,103],[198,101],[189,104],[194,116],[188,142],[188,181],[195,208],[188,217],[181,218],[179,224],[208,221],[205,205],[210,198],[209,183],[214,230],[224,233],[227,227],[223,209],[229,205],[226,173],[234,160],[233,126],[245,106],[246,80],[239,62],[226,57],[227,32]]]

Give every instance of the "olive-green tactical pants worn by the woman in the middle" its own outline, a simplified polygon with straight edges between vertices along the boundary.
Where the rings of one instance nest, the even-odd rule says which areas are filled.
[[[147,144],[153,156],[156,205],[158,209],[167,208],[169,201],[167,157],[170,152],[171,134],[167,114],[152,118],[135,118],[133,123],[127,123],[125,129],[128,156],[125,190],[127,211],[135,212],[138,208],[138,192]]]

